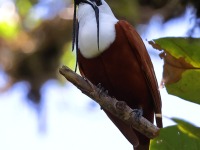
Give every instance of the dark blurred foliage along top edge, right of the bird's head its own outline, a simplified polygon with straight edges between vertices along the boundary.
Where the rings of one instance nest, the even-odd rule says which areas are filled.
[[[146,24],[154,15],[163,17],[163,22],[183,15],[188,6],[195,9],[196,18],[200,18],[198,0],[107,0],[114,14],[132,24]]]

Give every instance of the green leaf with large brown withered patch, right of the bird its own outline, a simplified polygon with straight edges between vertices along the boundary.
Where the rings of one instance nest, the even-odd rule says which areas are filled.
[[[162,83],[167,92],[200,104],[200,38],[160,38],[149,43],[162,51]]]

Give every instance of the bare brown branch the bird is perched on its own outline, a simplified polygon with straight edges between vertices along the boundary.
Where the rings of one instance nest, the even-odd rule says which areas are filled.
[[[150,139],[158,136],[159,128],[142,116],[138,118],[137,112],[126,105],[125,102],[110,97],[105,91],[102,91],[89,80],[76,74],[66,66],[62,66],[59,72],[84,94],[96,101],[102,108],[117,116],[126,124],[129,124]]]

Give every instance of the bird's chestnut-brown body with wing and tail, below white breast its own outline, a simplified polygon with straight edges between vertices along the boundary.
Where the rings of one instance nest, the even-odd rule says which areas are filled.
[[[153,122],[154,114],[161,113],[161,100],[149,55],[130,24],[119,21],[115,29],[115,41],[101,55],[86,59],[78,52],[80,72],[93,84],[101,83],[110,96],[125,101],[132,109],[142,108],[143,116]],[[109,112],[106,114],[134,147],[147,149],[148,138]],[[162,127],[161,118],[156,121]]]

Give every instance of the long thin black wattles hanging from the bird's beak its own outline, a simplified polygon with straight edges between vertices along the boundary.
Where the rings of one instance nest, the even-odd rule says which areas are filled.
[[[76,6],[78,6],[80,3],[85,3],[90,5],[94,12],[96,17],[96,23],[97,23],[97,46],[99,49],[99,8],[96,5],[96,3],[90,1],[90,0],[74,0],[74,18],[73,18],[73,41],[72,41],[72,51],[74,50],[74,45],[76,44],[76,49],[78,49],[78,30],[79,30],[79,23],[76,21]],[[76,43],[75,43],[76,41]]]

